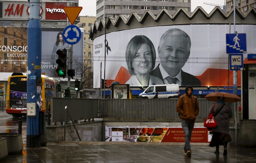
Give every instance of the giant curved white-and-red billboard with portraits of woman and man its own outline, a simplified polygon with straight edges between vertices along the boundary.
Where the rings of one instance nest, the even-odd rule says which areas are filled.
[[[236,31],[246,34],[247,53],[255,53],[256,26],[236,25]],[[169,83],[227,86],[228,75],[232,85],[233,73],[228,74],[226,54],[227,33],[228,25],[159,26],[108,33],[107,86],[114,81],[130,87]],[[104,73],[104,39],[101,35],[93,40],[94,88],[100,87],[100,72],[102,76]],[[238,86],[241,85],[239,74]]]

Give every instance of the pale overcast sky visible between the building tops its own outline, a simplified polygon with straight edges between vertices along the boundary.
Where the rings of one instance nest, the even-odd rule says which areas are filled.
[[[191,12],[193,12],[197,6],[203,7],[203,9],[209,14],[215,6],[211,6],[207,3],[214,3],[224,5],[224,0],[191,0]],[[80,16],[96,16],[96,0],[79,0],[79,6],[82,6],[83,9],[80,12]]]

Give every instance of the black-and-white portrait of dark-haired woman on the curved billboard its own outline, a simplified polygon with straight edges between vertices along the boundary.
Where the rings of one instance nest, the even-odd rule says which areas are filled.
[[[134,36],[126,47],[125,58],[129,73],[132,75],[125,84],[142,87],[163,84],[158,77],[149,75],[149,71],[155,67],[156,50],[148,37]]]

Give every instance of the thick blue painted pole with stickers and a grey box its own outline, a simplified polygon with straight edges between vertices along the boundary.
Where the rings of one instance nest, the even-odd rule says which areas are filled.
[[[36,116],[27,116],[27,147],[40,147],[39,113],[41,112],[41,49],[40,0],[30,0],[28,22],[27,103],[36,104]],[[27,113],[28,114],[28,113]]]

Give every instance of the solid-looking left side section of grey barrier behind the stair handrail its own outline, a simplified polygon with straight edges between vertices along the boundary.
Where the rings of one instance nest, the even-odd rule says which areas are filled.
[[[99,99],[51,98],[51,121],[61,122],[65,118],[65,106],[68,106],[73,120],[98,118]],[[71,120],[68,116],[66,120]]]

